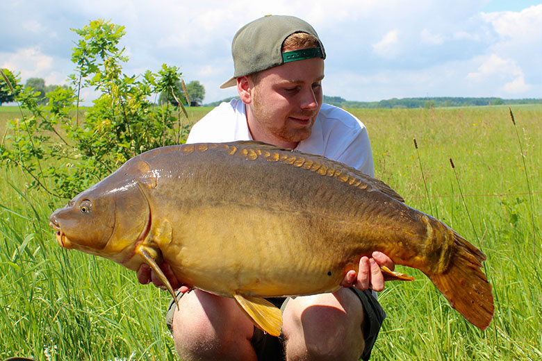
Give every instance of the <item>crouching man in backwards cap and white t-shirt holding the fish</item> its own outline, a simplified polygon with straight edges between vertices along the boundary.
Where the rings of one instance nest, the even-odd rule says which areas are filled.
[[[240,99],[222,103],[188,136],[194,142],[259,140],[317,153],[373,176],[365,126],[339,108],[322,105],[325,50],[314,29],[296,17],[266,16],[241,28],[232,42],[233,78]],[[233,181],[233,180],[232,180]],[[170,305],[176,350],[189,360],[368,360],[386,314],[368,288],[380,291],[379,269],[393,262],[375,252],[363,257],[333,294],[274,300],[283,310],[283,335],[265,335],[233,299],[199,289],[183,294],[179,310]],[[165,274],[181,293],[167,265]],[[161,286],[149,268],[140,283]],[[355,287],[351,287],[354,285]]]

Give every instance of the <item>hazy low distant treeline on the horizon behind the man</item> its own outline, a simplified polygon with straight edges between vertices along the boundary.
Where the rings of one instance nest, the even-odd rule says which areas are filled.
[[[221,101],[214,101],[205,106],[217,106],[222,101],[230,101],[238,96],[231,96]],[[515,104],[540,104],[542,99],[502,99],[502,98],[463,98],[461,96],[438,96],[427,98],[386,99],[381,101],[349,101],[340,96],[324,96],[324,103],[340,108],[441,108],[449,106],[498,106]]]

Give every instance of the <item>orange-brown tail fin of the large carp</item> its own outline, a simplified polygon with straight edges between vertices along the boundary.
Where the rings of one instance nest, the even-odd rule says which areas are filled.
[[[495,308],[491,285],[480,269],[485,259],[482,251],[454,233],[448,268],[441,274],[427,274],[452,308],[481,330],[489,326]]]

